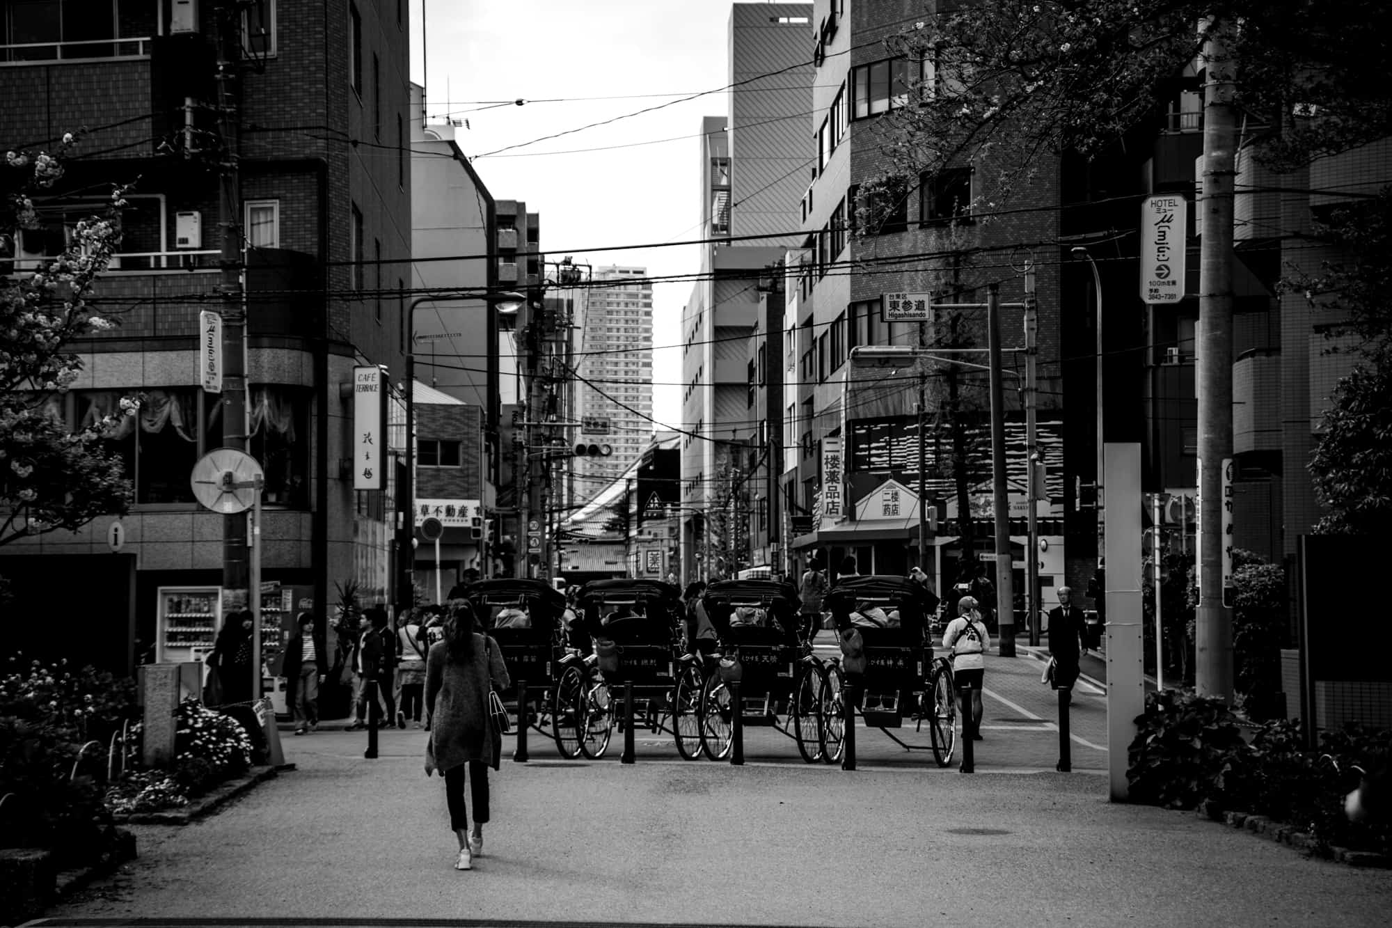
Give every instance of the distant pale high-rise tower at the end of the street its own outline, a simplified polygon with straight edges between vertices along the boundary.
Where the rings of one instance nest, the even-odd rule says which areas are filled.
[[[653,433],[653,284],[644,268],[596,268],[578,290],[575,410],[579,443],[603,443],[608,456],[578,456],[575,495],[589,499],[626,471]]]

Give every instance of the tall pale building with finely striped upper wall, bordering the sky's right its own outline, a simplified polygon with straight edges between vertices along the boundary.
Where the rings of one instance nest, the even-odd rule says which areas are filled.
[[[729,114],[702,121],[700,229],[707,244],[682,312],[683,580],[739,569],[711,564],[707,516],[728,503],[739,449],[757,433],[745,357],[759,309],[757,277],[799,240],[791,233],[816,155],[806,132],[810,17],[810,4],[734,4]],[[715,548],[724,546],[715,539]]]

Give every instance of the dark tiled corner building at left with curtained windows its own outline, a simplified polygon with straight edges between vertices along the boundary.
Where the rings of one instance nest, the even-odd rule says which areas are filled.
[[[111,585],[68,623],[70,659],[127,667],[196,659],[212,645],[224,517],[195,502],[189,475],[224,443],[223,397],[198,376],[199,311],[224,304],[224,234],[245,265],[248,450],[266,474],[262,578],[285,594],[266,595],[269,616],[331,616],[335,582],[356,584],[365,603],[390,602],[395,468],[383,468],[381,489],[354,490],[352,382],[355,365],[381,365],[400,405],[398,291],[411,255],[402,4],[111,0],[103,15],[58,0],[0,6],[0,138],[52,148],[86,127],[82,157],[36,202],[45,234],[25,230],[10,269],[61,249],[96,205],[86,196],[135,183],[121,254],[95,294],[121,308],[121,325],[72,346],[85,371],[57,414],[78,426],[145,394],[141,415],[110,439],[135,486],[132,511],[120,531],[97,518],[7,545],[14,560],[0,570],[21,578],[21,612],[38,614],[72,577],[95,580],[92,567]],[[228,13],[226,28],[242,35],[220,45],[245,54],[219,86],[214,35]],[[239,188],[220,208],[230,153]],[[400,428],[387,438],[401,449]]]

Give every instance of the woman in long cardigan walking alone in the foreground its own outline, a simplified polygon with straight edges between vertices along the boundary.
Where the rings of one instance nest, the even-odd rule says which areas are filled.
[[[489,821],[489,766],[498,769],[501,736],[489,723],[489,676],[500,690],[511,686],[498,644],[477,631],[477,619],[468,601],[451,603],[444,623],[444,640],[426,655],[426,709],[430,713],[430,741],[426,745],[426,775],[438,769],[450,805],[450,828],[459,839],[455,869],[473,869],[473,857],[483,853],[483,825]],[[464,805],[468,771],[473,800],[473,833]]]

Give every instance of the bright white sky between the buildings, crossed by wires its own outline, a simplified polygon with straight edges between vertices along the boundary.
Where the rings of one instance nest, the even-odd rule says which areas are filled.
[[[429,54],[422,61],[422,3]],[[411,0],[411,78],[429,67],[426,111],[469,120],[455,141],[473,157],[507,145],[679,99],[593,96],[697,93],[729,82],[725,0]],[[809,50],[810,45],[809,33]],[[810,52],[809,52],[810,54]],[[479,109],[487,102],[537,100]],[[540,100],[565,98],[561,103]],[[700,222],[700,120],[728,116],[725,93],[674,103],[508,152],[604,152],[477,157],[475,170],[496,199],[525,201],[541,216],[541,248],[553,261],[636,265],[649,274],[696,273],[696,245],[603,251],[604,247],[689,241]],[[812,131],[809,128],[809,131]],[[681,138],[678,138],[681,137]],[[601,249],[601,251],[593,251]],[[689,281],[653,287],[653,415],[682,425],[682,307]]]

